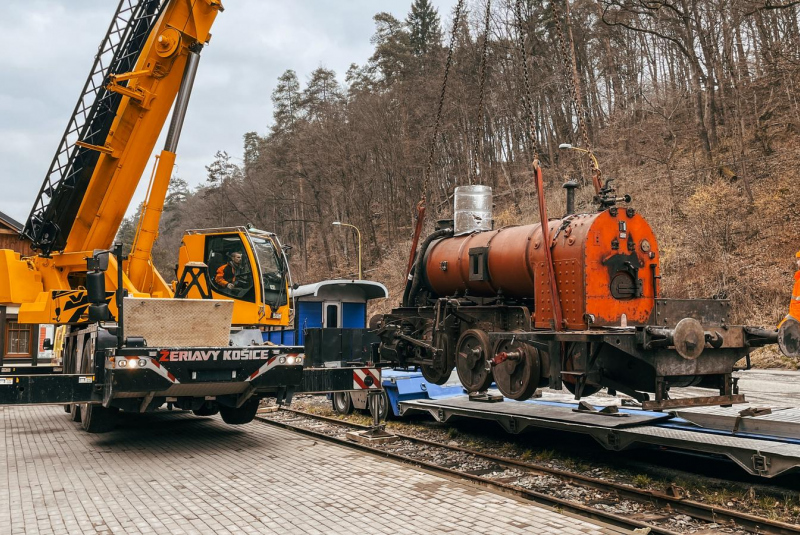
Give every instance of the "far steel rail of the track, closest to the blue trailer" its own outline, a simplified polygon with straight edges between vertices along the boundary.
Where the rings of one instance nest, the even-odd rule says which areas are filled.
[[[286,412],[324,421],[327,423],[338,424],[343,427],[350,427],[354,429],[364,429],[364,430],[369,429],[369,426],[338,420],[336,418],[321,416],[318,414],[313,414],[296,409],[284,408],[283,410]],[[590,487],[597,490],[604,490],[607,492],[613,492],[623,498],[627,498],[637,502],[650,503],[660,508],[669,508],[672,509],[673,511],[686,514],[698,520],[703,520],[706,522],[713,522],[718,524],[726,524],[725,527],[735,526],[746,529],[754,533],[760,533],[764,535],[791,535],[800,533],[800,525],[793,525],[786,522],[780,522],[777,520],[770,520],[768,518],[763,518],[748,513],[742,513],[740,511],[735,511],[724,507],[715,507],[702,502],[696,502],[685,498],[670,496],[669,494],[665,494],[662,492],[655,492],[646,489],[637,489],[636,487],[623,485],[621,483],[616,483],[613,481],[605,481],[602,479],[585,476],[582,474],[576,474],[573,472],[567,472],[565,470],[559,470],[557,468],[550,468],[548,466],[540,464],[519,461],[516,459],[509,459],[507,457],[501,457],[498,455],[493,455],[491,453],[483,453],[468,448],[462,448],[460,446],[449,446],[446,444],[442,444],[441,442],[436,442],[419,437],[413,437],[410,435],[404,435],[402,433],[397,433],[397,432],[394,432],[394,434],[403,440],[408,440],[418,444],[444,448],[451,451],[458,451],[460,453],[474,455],[476,457],[482,457],[484,459],[491,460],[493,462],[496,462],[500,465],[505,465],[507,467],[523,468],[525,470],[534,473],[555,476],[576,485]],[[348,442],[348,444],[350,444],[350,442]],[[382,449],[377,449],[377,448],[372,448],[372,449],[375,451],[383,452]],[[657,532],[656,531],[657,529],[660,529],[657,526],[652,526],[650,524],[645,524],[645,525],[647,527],[653,528],[654,533]]]

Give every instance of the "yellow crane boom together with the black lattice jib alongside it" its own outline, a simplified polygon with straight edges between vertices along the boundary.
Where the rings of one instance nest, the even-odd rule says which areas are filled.
[[[23,231],[44,256],[111,246],[189,49],[208,41],[221,8],[219,0],[121,0]]]

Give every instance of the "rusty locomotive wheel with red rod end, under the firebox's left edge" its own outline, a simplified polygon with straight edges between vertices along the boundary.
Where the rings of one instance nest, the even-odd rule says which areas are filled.
[[[536,392],[541,377],[539,351],[522,343],[501,340],[495,346],[495,354],[509,353],[511,356],[492,369],[497,389],[507,398],[524,401]]]

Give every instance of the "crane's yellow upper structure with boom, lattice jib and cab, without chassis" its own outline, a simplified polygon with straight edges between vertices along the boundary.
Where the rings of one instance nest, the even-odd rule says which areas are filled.
[[[0,250],[0,300],[19,304],[20,323],[87,321],[85,259],[111,248],[174,103],[122,274],[128,295],[173,297],[151,254],[200,51],[220,11],[219,0],[120,3],[22,232],[39,254],[20,258]],[[229,289],[215,283],[214,272],[232,252],[243,255],[242,276]],[[187,264],[197,270],[197,263],[212,271],[203,277],[204,290],[234,300],[233,324],[288,323],[288,269],[274,235],[244,228],[192,231],[179,258],[181,274]],[[113,258],[106,275],[106,284],[116,286]],[[177,290],[184,297],[201,293]],[[109,307],[116,315],[111,300]]]

